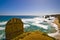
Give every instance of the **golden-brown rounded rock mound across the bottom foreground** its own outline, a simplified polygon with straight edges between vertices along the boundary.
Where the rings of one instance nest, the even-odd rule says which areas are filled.
[[[43,32],[34,31],[23,33],[12,40],[55,40],[55,38],[52,38]]]

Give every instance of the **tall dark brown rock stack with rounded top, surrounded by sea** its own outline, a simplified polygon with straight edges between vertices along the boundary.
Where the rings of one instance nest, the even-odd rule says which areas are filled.
[[[23,29],[23,22],[21,21],[21,19],[12,18],[6,24],[6,40],[11,40],[22,34],[24,32]]]

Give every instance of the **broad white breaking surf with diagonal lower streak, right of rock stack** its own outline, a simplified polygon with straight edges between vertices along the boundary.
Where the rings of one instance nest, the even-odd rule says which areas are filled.
[[[52,23],[51,20],[48,20],[45,18],[40,18],[40,17],[36,17],[36,18],[32,18],[32,19],[22,19],[22,21],[27,24],[31,23],[32,25],[42,27],[44,29],[48,29],[48,25],[43,25],[41,23],[43,23],[44,21],[46,21],[46,23]]]

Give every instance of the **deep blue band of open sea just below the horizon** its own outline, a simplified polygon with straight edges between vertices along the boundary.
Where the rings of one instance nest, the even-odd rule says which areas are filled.
[[[10,20],[11,18],[34,18],[37,16],[0,16],[0,22],[1,21],[7,21]]]

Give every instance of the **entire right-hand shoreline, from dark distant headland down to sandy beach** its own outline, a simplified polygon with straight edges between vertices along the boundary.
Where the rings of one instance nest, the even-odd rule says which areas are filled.
[[[58,26],[58,31],[59,31],[59,33],[56,36],[54,36],[54,38],[60,40],[60,14],[46,15],[45,18],[48,18],[50,16],[55,17],[54,23]]]

